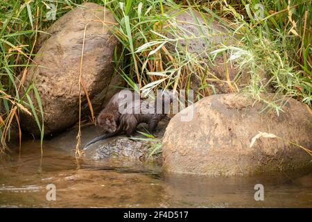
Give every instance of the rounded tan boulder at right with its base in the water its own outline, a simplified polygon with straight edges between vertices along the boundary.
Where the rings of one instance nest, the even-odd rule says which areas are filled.
[[[311,155],[294,142],[312,147],[311,110],[289,99],[284,112],[261,112],[266,104],[244,94],[207,96],[171,119],[164,135],[164,169],[182,173],[232,176],[311,167]],[[181,121],[191,113],[191,121]],[[261,137],[260,132],[278,138]]]

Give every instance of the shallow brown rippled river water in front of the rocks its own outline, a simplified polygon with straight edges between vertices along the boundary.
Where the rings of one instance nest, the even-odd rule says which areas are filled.
[[[254,200],[254,185],[264,200]],[[54,184],[56,200],[46,200]],[[24,142],[0,160],[0,207],[312,207],[312,173],[209,178],[162,173],[153,163],[76,160]]]

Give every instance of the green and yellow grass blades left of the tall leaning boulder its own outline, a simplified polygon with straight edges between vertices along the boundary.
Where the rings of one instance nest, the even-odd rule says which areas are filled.
[[[76,6],[71,1],[0,2],[0,154],[6,150],[12,130],[21,142],[20,112],[33,115],[41,132],[41,144],[43,141],[44,110],[40,96],[36,85],[24,87],[23,83],[35,56],[33,46],[37,35],[53,23],[46,19],[46,13],[51,10],[49,3],[55,4],[57,18]]]

